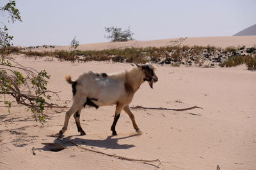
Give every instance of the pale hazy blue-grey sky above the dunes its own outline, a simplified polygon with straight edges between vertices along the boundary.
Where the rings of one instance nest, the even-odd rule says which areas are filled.
[[[1,0],[4,6],[6,0]],[[13,45],[107,42],[104,27],[129,26],[134,39],[232,36],[256,24],[254,0],[17,0],[22,22],[8,24]],[[3,17],[3,16],[0,16]],[[2,18],[1,18],[2,20]]]

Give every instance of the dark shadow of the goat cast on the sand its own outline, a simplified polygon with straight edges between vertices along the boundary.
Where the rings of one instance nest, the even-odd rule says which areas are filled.
[[[120,145],[118,143],[118,140],[120,139],[127,139],[127,138],[132,138],[134,136],[138,136],[138,134],[133,134],[130,136],[125,136],[122,138],[113,138],[116,136],[108,136],[106,139],[84,139],[84,138],[74,138],[71,139],[74,136],[68,136],[67,138],[57,138],[55,139],[54,143],[63,143],[65,146],[74,146],[73,143],[76,143],[77,145],[86,145],[86,146],[95,146],[99,148],[110,148],[110,149],[128,149],[128,148],[133,148],[135,145],[127,145],[123,144]],[[68,142],[72,141],[72,143]]]

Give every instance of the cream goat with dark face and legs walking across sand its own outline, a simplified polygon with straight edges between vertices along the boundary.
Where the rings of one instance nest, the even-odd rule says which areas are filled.
[[[138,125],[135,122],[129,104],[135,92],[140,88],[144,81],[153,89],[153,83],[158,80],[155,71],[156,66],[152,64],[138,65],[128,71],[119,73],[94,73],[89,71],[84,73],[76,81],[72,81],[70,76],[66,76],[66,81],[72,84],[73,104],[65,115],[65,122],[59,135],[67,131],[68,120],[72,114],[76,120],[77,131],[81,135],[86,133],[80,125],[80,113],[86,105],[99,108],[99,106],[116,105],[115,118],[111,125],[113,136],[116,135],[116,123],[120,117],[120,112],[124,110],[132,120],[132,125],[138,134],[141,134]]]

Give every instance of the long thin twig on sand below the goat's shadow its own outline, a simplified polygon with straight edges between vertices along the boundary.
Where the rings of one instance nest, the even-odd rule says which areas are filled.
[[[65,139],[65,140],[67,140],[67,139]],[[154,166],[154,167],[157,167],[157,168],[159,168],[159,166],[161,165],[161,160],[159,160],[159,159],[155,159],[155,160],[132,159],[132,158],[123,157],[123,156],[119,156],[119,155],[113,155],[113,154],[109,154],[109,153],[100,152],[100,151],[97,151],[97,150],[92,150],[90,148],[86,148],[86,147],[83,147],[81,145],[78,145],[77,143],[74,143],[73,141],[70,141],[70,140],[67,140],[67,142],[72,143],[73,145],[77,146],[77,148],[81,148],[83,150],[88,150],[90,152],[100,153],[102,155],[107,155],[109,157],[114,157],[116,159],[129,160],[129,161],[137,161],[137,162],[142,162],[143,164],[145,164],[146,162],[158,162],[159,164],[157,164],[157,166],[154,165],[154,164],[149,164],[150,166]]]

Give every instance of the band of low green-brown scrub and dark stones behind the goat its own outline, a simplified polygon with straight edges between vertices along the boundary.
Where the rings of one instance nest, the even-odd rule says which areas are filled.
[[[145,64],[171,64],[179,67],[233,67],[246,64],[248,69],[255,69],[256,48],[217,48],[216,46],[162,46],[147,48],[114,48],[109,50],[55,50],[36,52],[33,48],[8,48],[8,53],[22,53],[27,57],[56,57],[59,60],[87,62],[91,60],[109,60],[113,62],[136,62]]]

